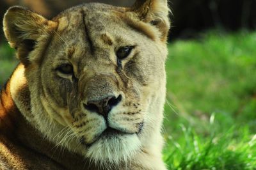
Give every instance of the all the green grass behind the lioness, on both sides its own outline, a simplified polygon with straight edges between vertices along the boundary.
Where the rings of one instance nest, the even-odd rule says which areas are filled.
[[[168,45],[168,169],[256,170],[256,32],[210,31]],[[17,64],[0,45],[0,84]]]

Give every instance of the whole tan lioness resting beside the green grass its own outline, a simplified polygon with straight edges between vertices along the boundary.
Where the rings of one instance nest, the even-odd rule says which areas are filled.
[[[82,4],[52,20],[20,6],[20,63],[1,91],[0,169],[166,169],[166,0]]]

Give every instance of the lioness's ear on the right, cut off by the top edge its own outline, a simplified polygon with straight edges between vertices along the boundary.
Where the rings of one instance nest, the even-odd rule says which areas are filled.
[[[138,19],[156,26],[161,33],[161,40],[166,41],[170,29],[170,20],[167,0],[136,0],[131,11]]]

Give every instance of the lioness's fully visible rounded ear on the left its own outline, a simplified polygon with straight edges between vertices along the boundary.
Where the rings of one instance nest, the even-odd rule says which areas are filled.
[[[56,22],[21,6],[9,8],[3,20],[4,35],[11,47],[17,49],[17,56],[24,65],[30,62],[28,54],[35,48],[38,38],[56,25]]]

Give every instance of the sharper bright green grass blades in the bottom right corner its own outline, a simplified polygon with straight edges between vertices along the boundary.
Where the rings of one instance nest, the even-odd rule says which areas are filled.
[[[164,160],[169,169],[255,169],[256,135],[247,127],[230,128],[208,137],[196,134],[191,128],[182,128],[179,139],[170,138]]]

